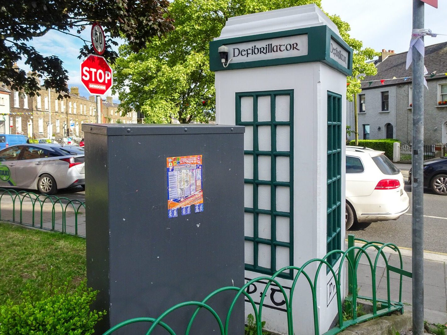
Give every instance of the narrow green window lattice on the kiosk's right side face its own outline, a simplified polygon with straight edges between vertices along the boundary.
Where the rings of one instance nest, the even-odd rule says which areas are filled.
[[[328,179],[327,179],[327,252],[342,247],[342,96],[328,91]],[[340,258],[332,254],[334,266]],[[327,269],[329,272],[329,268]]]

